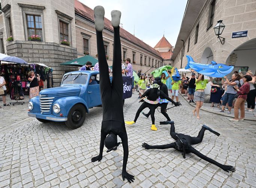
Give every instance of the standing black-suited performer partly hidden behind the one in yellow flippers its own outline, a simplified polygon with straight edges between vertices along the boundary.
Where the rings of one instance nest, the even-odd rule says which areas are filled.
[[[154,83],[158,84],[160,86],[160,90],[162,92],[164,92],[164,94],[166,94],[167,96],[168,95],[168,89],[167,89],[167,86],[166,84],[162,83],[161,82],[161,78],[160,77],[157,77],[155,78],[155,81]],[[161,103],[159,102],[156,106],[159,107],[161,106],[161,113],[164,115],[164,117],[166,117],[166,122],[169,122],[171,119],[170,117],[168,116],[168,114],[166,113],[166,108],[167,108],[167,105],[168,105],[168,100],[167,99],[164,99],[164,98],[161,98],[160,97],[160,100],[161,100]],[[148,114],[145,114],[143,111],[142,111],[142,114],[146,117],[149,117],[149,115],[151,114],[151,110],[149,110]]]

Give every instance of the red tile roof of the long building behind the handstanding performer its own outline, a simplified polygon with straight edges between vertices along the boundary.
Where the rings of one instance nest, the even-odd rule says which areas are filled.
[[[75,14],[78,14],[81,17],[94,23],[93,10],[87,7],[86,5],[84,5],[83,3],[79,2],[78,0],[75,0]],[[107,18],[104,18],[104,22],[105,22],[105,29],[113,32],[111,21],[108,20]],[[126,40],[133,42],[134,44],[144,48],[145,50],[148,50],[149,52],[161,57],[160,53],[157,50],[155,50],[145,42],[141,41],[131,33],[127,32],[123,28],[120,28],[120,37],[125,38]]]

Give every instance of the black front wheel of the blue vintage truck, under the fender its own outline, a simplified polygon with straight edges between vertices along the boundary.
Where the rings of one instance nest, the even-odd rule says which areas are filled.
[[[68,120],[65,124],[68,128],[77,129],[83,125],[86,116],[86,110],[83,105],[74,105],[68,113]]]

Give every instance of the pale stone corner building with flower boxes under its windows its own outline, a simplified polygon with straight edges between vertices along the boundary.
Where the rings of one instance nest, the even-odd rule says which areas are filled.
[[[54,86],[59,86],[65,71],[75,70],[74,67],[59,66],[77,57],[74,2],[3,0],[1,3],[1,52],[21,57],[29,63],[51,66]],[[39,35],[41,40],[30,41],[31,35]],[[13,41],[6,41],[9,36]],[[69,46],[61,43],[64,38]]]

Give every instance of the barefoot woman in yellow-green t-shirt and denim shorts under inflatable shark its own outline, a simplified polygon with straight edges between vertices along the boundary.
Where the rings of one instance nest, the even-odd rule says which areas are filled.
[[[212,81],[212,77],[209,78]],[[198,79],[196,80],[196,91],[194,93],[194,101],[196,102],[196,108],[192,111],[194,116],[196,116],[197,114],[197,119],[200,119],[199,109],[202,107],[203,102],[205,101],[205,88],[208,82],[209,80],[205,79],[202,74],[198,74]]]

